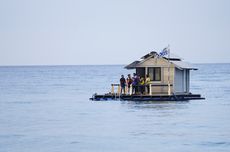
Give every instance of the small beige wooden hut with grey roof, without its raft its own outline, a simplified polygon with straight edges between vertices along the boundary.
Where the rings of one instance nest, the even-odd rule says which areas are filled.
[[[136,69],[140,77],[149,75],[152,94],[190,94],[190,70],[197,70],[174,54],[159,57],[157,52],[150,52],[125,68]]]

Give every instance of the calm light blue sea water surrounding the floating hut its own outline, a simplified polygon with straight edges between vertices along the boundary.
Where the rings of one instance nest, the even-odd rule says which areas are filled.
[[[189,102],[90,101],[123,66],[0,67],[0,152],[230,151],[230,64],[200,64]]]

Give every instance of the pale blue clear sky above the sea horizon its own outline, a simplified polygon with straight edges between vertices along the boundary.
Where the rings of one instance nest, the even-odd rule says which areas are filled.
[[[0,0],[0,65],[230,62],[229,0]]]

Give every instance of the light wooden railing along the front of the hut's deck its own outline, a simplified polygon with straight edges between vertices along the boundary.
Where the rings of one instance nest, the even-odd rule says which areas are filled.
[[[152,86],[153,87],[169,87],[168,84],[145,84],[145,85],[135,85],[133,86],[132,84],[130,85],[130,88],[128,89],[127,86],[125,86],[125,91],[124,93],[125,94],[129,94],[129,95],[132,95],[133,94],[133,87],[144,87],[144,92],[146,93],[146,88],[148,87],[148,94],[149,95],[152,95],[153,91],[152,91]],[[170,87],[172,87],[173,85],[170,84]],[[115,87],[117,87],[117,92],[115,93]],[[169,92],[171,94],[171,91]],[[121,94],[121,86],[120,84],[111,84],[111,94],[118,94],[120,95]]]

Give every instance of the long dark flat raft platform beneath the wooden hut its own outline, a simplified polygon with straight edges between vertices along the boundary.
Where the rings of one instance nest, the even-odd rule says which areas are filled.
[[[172,94],[172,95],[125,95],[125,94],[94,94],[90,100],[121,100],[121,101],[188,101],[188,100],[204,100],[200,94]]]

